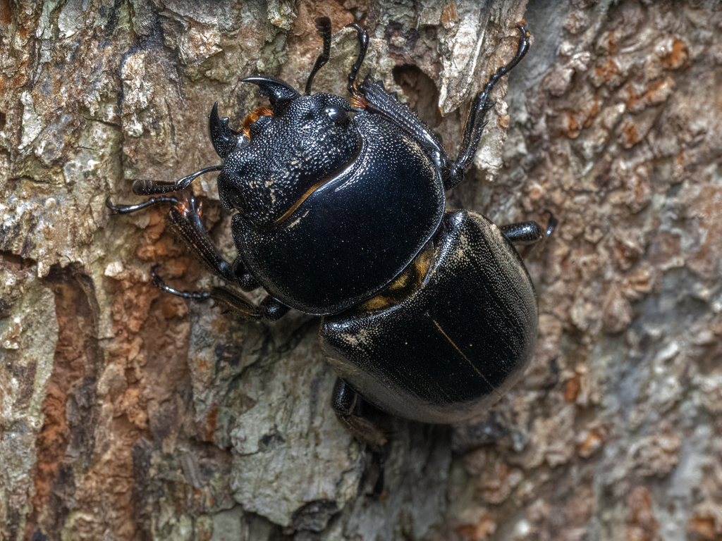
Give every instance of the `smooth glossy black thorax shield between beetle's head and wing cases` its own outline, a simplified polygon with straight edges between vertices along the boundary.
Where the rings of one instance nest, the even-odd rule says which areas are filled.
[[[355,123],[357,159],[281,223],[258,229],[235,217],[251,273],[302,312],[333,314],[373,295],[414,259],[443,215],[440,176],[419,144],[367,113]]]

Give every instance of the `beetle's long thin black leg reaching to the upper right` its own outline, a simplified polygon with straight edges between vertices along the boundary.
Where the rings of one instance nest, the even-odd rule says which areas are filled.
[[[477,152],[479,146],[479,139],[482,137],[482,131],[484,131],[484,117],[494,107],[496,102],[490,102],[489,96],[494,89],[499,79],[509,73],[516,66],[519,61],[526,55],[529,50],[529,38],[531,35],[523,26],[517,27],[521,36],[519,37],[519,44],[516,50],[516,55],[512,60],[505,66],[501,66],[497,71],[490,76],[487,84],[484,84],[484,88],[479,94],[474,97],[471,102],[471,113],[469,118],[466,120],[466,126],[464,127],[464,140],[461,143],[461,151],[458,154],[456,162],[451,166],[451,170],[448,172],[448,178],[444,182],[444,190],[451,190],[458,185],[461,180],[464,180],[464,172],[469,169],[471,162],[474,160],[474,154]]]

